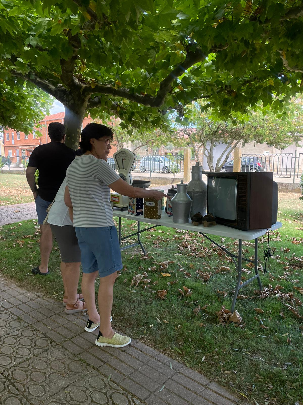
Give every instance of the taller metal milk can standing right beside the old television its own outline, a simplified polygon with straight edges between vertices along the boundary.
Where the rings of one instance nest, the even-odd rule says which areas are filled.
[[[191,166],[191,181],[187,184],[186,192],[193,200],[190,210],[190,217],[197,212],[202,216],[206,215],[207,211],[207,185],[202,180],[203,167],[196,162],[195,166]]]

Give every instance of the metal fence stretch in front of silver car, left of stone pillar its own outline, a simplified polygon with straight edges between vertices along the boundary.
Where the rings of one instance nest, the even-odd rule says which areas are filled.
[[[117,170],[113,156],[108,156],[107,163],[109,163],[114,170]],[[183,174],[183,168],[183,155],[137,155],[132,172]]]

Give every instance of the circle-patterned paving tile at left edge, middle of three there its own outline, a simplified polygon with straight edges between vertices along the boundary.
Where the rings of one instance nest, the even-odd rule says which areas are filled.
[[[9,368],[51,347],[50,341],[33,328],[12,331],[0,337],[0,366]]]

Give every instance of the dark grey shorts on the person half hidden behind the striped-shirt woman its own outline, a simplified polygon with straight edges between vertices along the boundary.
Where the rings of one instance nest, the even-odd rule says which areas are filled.
[[[50,224],[50,228],[58,243],[63,263],[81,262],[81,251],[74,226]]]

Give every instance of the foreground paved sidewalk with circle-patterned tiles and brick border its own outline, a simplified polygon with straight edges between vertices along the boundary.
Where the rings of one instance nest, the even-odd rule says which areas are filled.
[[[87,315],[0,277],[3,405],[240,405],[231,391],[133,340],[97,347]]]

